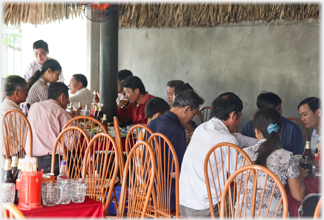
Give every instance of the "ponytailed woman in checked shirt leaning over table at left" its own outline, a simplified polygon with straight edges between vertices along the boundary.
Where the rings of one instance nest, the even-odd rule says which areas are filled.
[[[42,68],[28,80],[26,102],[32,105],[35,102],[48,100],[47,83],[56,82],[61,71],[62,67],[56,60],[45,61]]]

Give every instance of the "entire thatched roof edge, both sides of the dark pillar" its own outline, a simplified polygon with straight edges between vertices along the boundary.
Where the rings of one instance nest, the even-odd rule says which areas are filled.
[[[79,17],[78,3],[5,3],[4,23],[46,24]],[[319,3],[131,3],[119,5],[119,26],[213,27],[241,21],[319,20]]]

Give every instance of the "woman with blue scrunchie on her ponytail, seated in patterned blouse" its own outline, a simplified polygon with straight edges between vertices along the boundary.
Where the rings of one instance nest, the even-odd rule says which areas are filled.
[[[254,164],[264,166],[271,170],[279,178],[283,186],[288,183],[292,197],[301,201],[305,193],[303,179],[307,176],[307,170],[299,166],[299,162],[292,152],[282,148],[279,136],[282,130],[281,115],[274,108],[262,108],[254,114],[253,125],[258,143],[254,146],[244,148],[243,150],[247,153]],[[243,156],[240,155],[238,158],[238,168],[243,166],[243,159]],[[259,174],[258,178],[265,178],[265,175]],[[270,182],[267,182],[267,184],[270,184]],[[260,189],[258,188],[257,197],[260,196],[262,190],[263,186],[260,187]],[[279,189],[276,190],[277,191],[273,195],[272,204],[274,202],[274,204],[279,204],[281,198]],[[243,196],[243,193],[244,192],[241,192],[241,196]],[[265,193],[267,195],[265,195],[264,200],[269,200],[272,194],[272,189],[270,190],[269,187],[266,187]],[[248,189],[246,196],[248,197],[248,201],[249,199],[252,200],[252,188]],[[260,201],[256,202],[255,210],[259,209],[259,202]],[[265,204],[269,204],[269,202],[263,202],[261,218],[265,217],[268,209]],[[272,210],[270,207],[268,217],[273,217],[275,212],[276,210]],[[280,218],[281,215],[282,209],[279,210],[277,217]]]

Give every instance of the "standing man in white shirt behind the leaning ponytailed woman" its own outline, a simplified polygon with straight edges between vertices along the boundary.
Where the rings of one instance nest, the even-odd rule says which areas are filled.
[[[32,77],[34,75],[34,73],[43,66],[43,63],[46,60],[53,59],[53,58],[50,58],[47,56],[49,53],[48,44],[43,40],[35,41],[33,44],[33,50],[34,50],[36,59],[33,60],[29,64],[29,66],[27,67],[26,72],[24,74],[24,78],[27,82],[28,82],[29,78]],[[61,72],[57,82],[64,83],[63,72]]]

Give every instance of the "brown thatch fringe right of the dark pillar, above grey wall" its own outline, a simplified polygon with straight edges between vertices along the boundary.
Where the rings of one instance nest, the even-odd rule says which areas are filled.
[[[241,21],[319,20],[320,4],[288,3],[133,3],[119,7],[119,26],[213,27]]]

